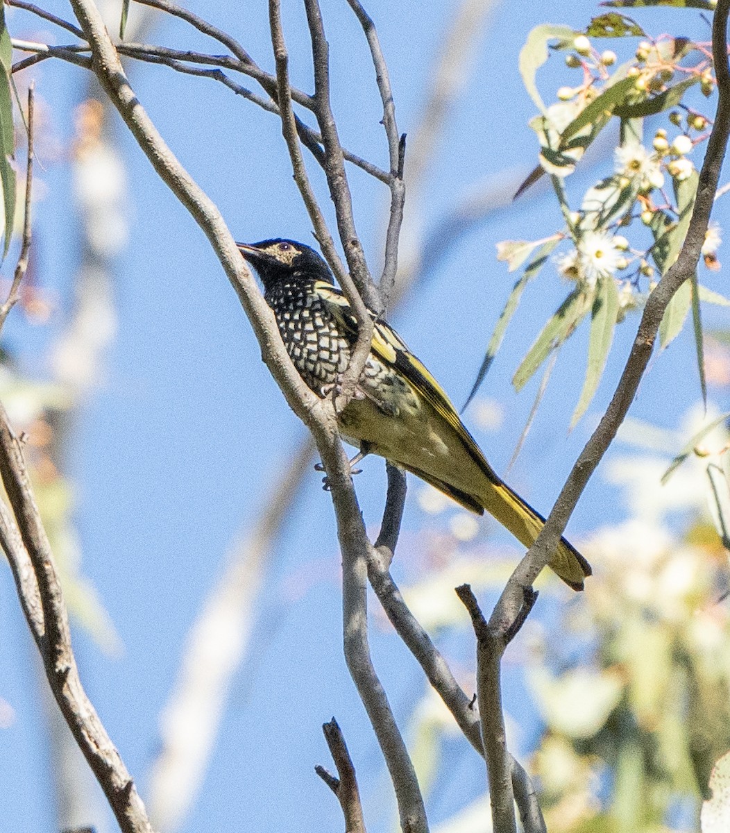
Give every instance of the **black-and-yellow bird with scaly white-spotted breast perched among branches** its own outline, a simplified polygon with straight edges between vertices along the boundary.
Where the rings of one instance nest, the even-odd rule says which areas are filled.
[[[276,317],[281,340],[300,376],[318,397],[336,390],[350,362],[358,324],[330,267],[304,243],[277,237],[237,243],[256,271]],[[337,416],[342,438],[435,486],[464,508],[488,511],[524,546],[544,517],[489,466],[454,405],[422,362],[385,321],[369,311],[370,354],[355,394]],[[584,589],[591,567],[561,538],[549,566],[574,590]]]

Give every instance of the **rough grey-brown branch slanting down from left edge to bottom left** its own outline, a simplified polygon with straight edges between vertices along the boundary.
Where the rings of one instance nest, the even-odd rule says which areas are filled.
[[[51,548],[27,476],[21,442],[0,405],[0,474],[19,534],[0,510],[0,536],[16,576],[23,611],[43,659],[48,683],[78,746],[97,776],[123,833],[151,833],[145,807],[111,738],[83,690],[73,656],[66,606]],[[37,585],[28,576],[32,565]],[[38,616],[38,597],[42,624]]]

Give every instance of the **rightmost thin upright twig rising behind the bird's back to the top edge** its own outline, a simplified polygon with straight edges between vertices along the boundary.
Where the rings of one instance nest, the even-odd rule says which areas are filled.
[[[385,256],[383,262],[383,274],[380,277],[380,301],[383,307],[387,307],[390,292],[395,283],[395,272],[398,271],[398,241],[400,227],[403,224],[403,207],[405,205],[405,182],[403,181],[403,169],[405,164],[405,134],[401,137],[398,132],[398,125],[395,122],[395,102],[393,92],[390,88],[390,76],[388,65],[380,47],[380,38],[375,29],[375,23],[370,15],[365,12],[360,0],[347,0],[350,8],[360,21],[360,26],[365,32],[370,54],[375,66],[375,81],[380,91],[380,100],[383,102],[383,127],[385,137],[388,140],[388,156],[390,159],[390,216],[388,228],[385,232]]]

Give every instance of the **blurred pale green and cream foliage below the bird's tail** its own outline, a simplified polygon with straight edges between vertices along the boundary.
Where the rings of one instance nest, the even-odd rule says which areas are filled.
[[[723,358],[730,367],[730,356]],[[728,385],[717,368],[708,378]],[[619,440],[625,453],[613,456],[605,476],[628,520],[579,542],[594,568],[584,594],[552,606],[558,616],[548,623],[535,611],[510,649],[544,721],[529,769],[551,833],[698,830],[713,766],[730,750],[727,416],[697,407],[678,431],[628,421]],[[681,465],[663,482],[673,453]],[[713,469],[722,481],[711,480]],[[461,534],[460,511],[428,487],[420,506],[441,520],[442,531],[431,535],[443,560],[431,559],[405,599],[431,633],[450,634],[452,647],[459,634],[469,651],[473,634],[453,588],[467,580],[482,594],[497,591],[516,556],[489,552],[486,561],[477,532]],[[549,576],[539,581],[543,593],[563,590]],[[471,663],[455,673],[474,691]],[[415,711],[412,733],[428,787],[454,733],[432,692]],[[518,750],[519,742],[510,746]],[[727,796],[705,805],[703,818],[725,818],[722,801]],[[483,829],[479,806],[459,811],[443,829]],[[713,833],[728,829],[713,823]]]

